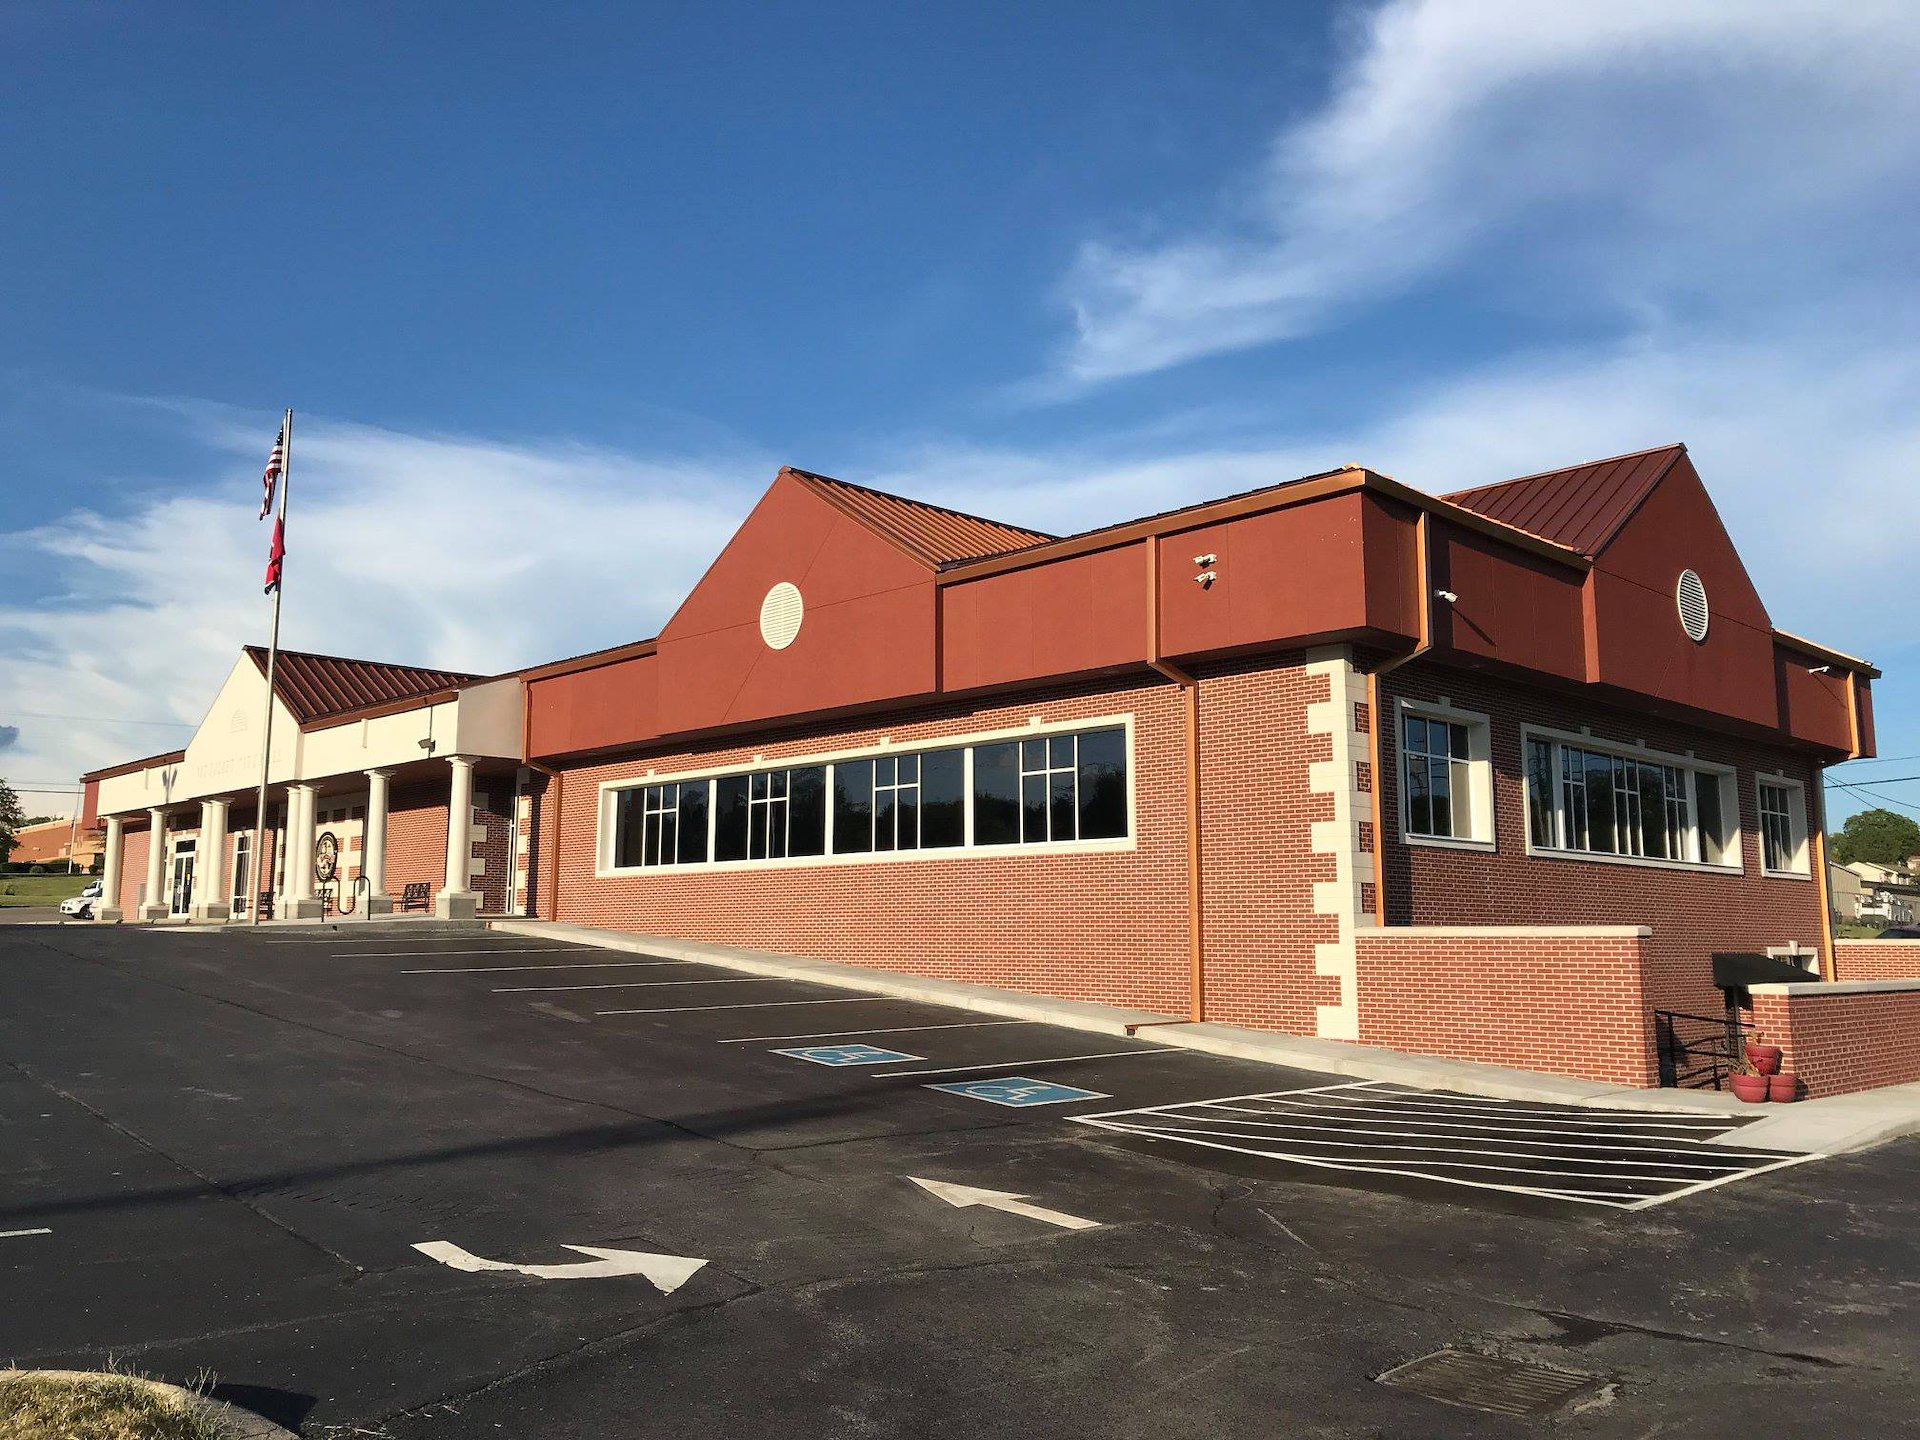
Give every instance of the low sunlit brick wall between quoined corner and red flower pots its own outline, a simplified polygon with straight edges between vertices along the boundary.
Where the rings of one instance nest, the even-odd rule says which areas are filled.
[[[1359,1041],[1615,1085],[1657,1085],[1634,935],[1359,931]]]

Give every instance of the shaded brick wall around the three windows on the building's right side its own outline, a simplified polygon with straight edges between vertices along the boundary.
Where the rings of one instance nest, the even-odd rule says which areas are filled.
[[[1411,847],[1400,831],[1396,699],[1446,697],[1463,710],[1492,716],[1494,818],[1498,852]],[[1553,691],[1486,680],[1459,670],[1409,664],[1380,682],[1384,868],[1388,924],[1423,925],[1651,925],[1647,987],[1663,1010],[1720,1012],[1711,985],[1715,950],[1764,950],[1797,941],[1822,947],[1826,916],[1812,879],[1761,874],[1755,766],[1782,768],[1820,793],[1818,770],[1799,753],[1730,739],[1707,730],[1613,710]],[[1659,751],[1736,768],[1743,868],[1701,874],[1597,860],[1530,858],[1521,726],[1536,724],[1596,739],[1642,739]]]

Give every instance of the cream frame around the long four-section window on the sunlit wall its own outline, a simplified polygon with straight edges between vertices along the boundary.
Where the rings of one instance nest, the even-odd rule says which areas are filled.
[[[1081,733],[1087,730],[1121,730],[1127,747],[1127,833],[1110,839],[1073,841],[1021,841],[1018,845],[975,845],[973,843],[973,747],[993,745],[1010,739],[1039,739],[1043,735]],[[603,780],[597,785],[593,876],[595,879],[624,879],[630,876],[672,876],[680,872],[726,874],[732,870],[799,870],[804,866],[856,866],[856,864],[914,864],[920,860],[993,860],[1020,854],[1114,854],[1139,849],[1140,835],[1140,766],[1135,751],[1137,728],[1133,712],[1092,714],[1073,720],[1033,720],[1025,726],[1006,726],[1000,730],[977,730],[964,735],[929,735],[925,739],[895,743],[887,737],[868,745],[820,751],[808,755],[780,755],[735,760],[732,764],[684,768],[670,772],[647,770],[637,776]],[[826,833],[833,843],[833,766],[845,760],[874,760],[883,755],[922,755],[925,751],[960,751],[962,801],[966,808],[966,845],[939,845],[918,851],[872,851],[860,854],[789,854],[778,860],[693,860],[659,866],[616,866],[612,864],[614,814],[618,791],[641,789],[645,785],[685,785],[718,781],[726,776],[751,774],[755,770],[804,770],[806,766],[826,766]],[[714,828],[718,789],[707,791],[707,852],[714,851]],[[791,812],[789,812],[791,814]],[[791,820],[789,820],[791,824]]]

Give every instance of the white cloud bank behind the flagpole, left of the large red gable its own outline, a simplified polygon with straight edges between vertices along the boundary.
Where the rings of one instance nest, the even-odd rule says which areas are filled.
[[[65,781],[184,743],[238,647],[267,639],[259,424],[180,413],[207,444],[204,484],[12,541],[63,582],[54,603],[0,609],[0,697],[33,712],[13,778]],[[649,636],[774,468],[305,422],[280,641],[492,672]],[[167,718],[182,728],[129,724]]]

